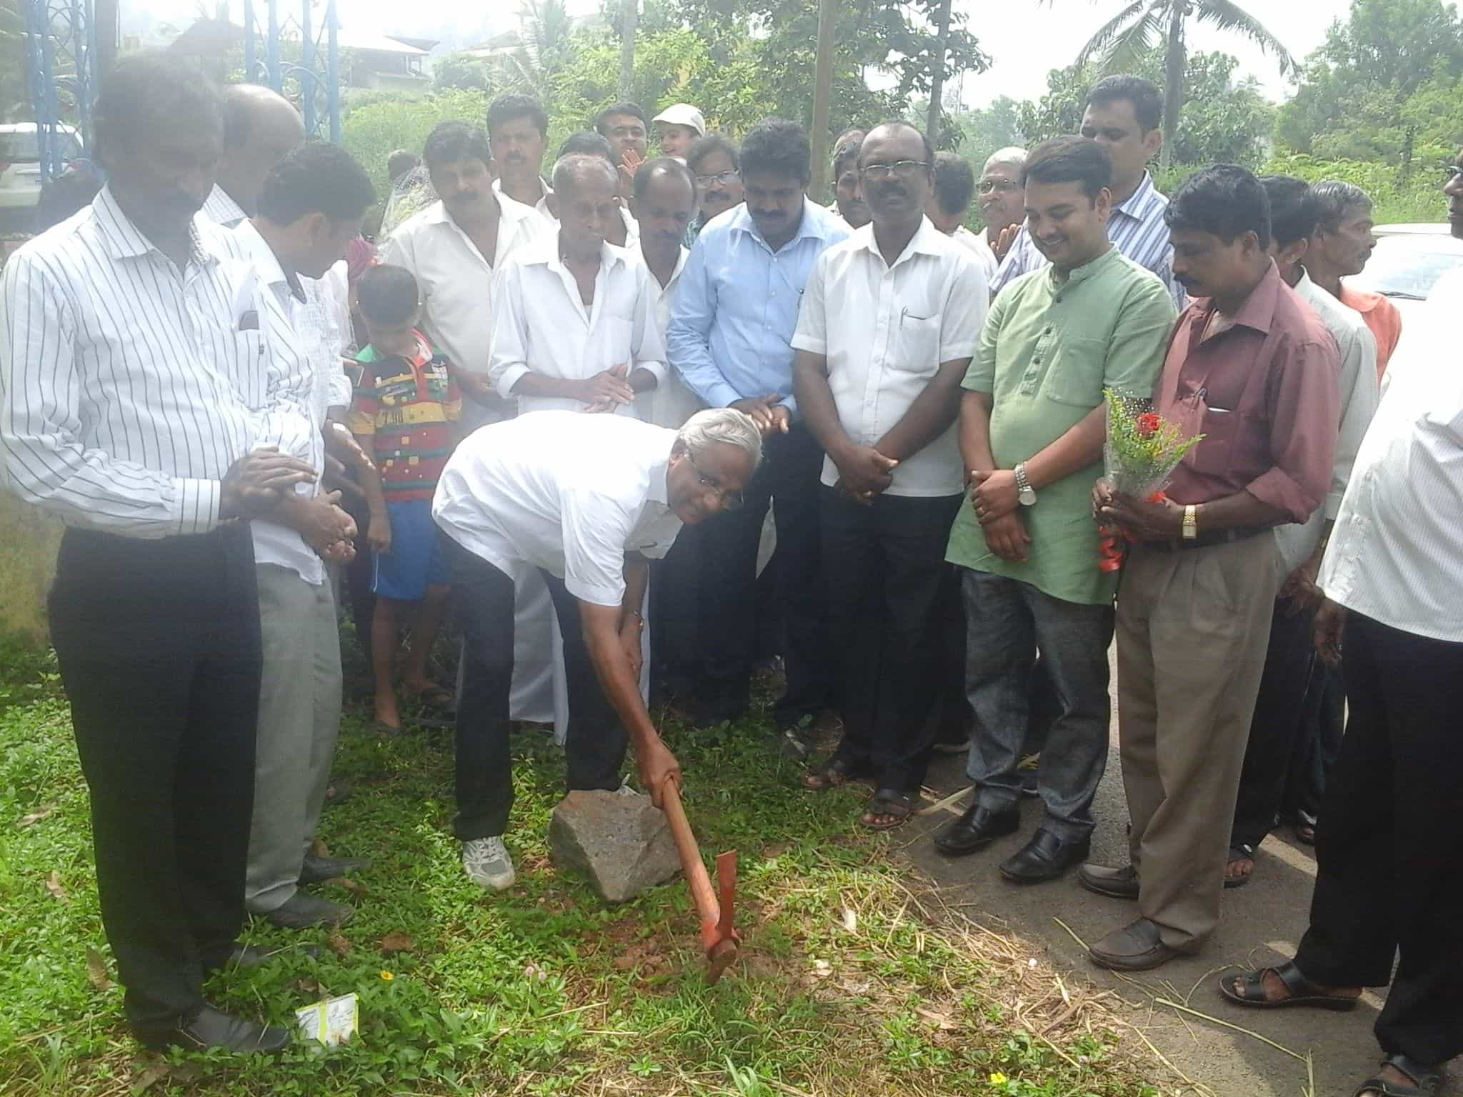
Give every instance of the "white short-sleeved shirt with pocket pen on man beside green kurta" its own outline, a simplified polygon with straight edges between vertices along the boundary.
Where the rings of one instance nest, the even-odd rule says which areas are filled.
[[[969,249],[925,218],[894,265],[873,225],[824,252],[808,279],[793,348],[828,360],[838,420],[872,446],[926,389],[941,363],[976,353],[986,319],[986,276]],[[838,483],[824,458],[822,483]],[[964,483],[955,424],[894,470],[891,496],[960,494]]]

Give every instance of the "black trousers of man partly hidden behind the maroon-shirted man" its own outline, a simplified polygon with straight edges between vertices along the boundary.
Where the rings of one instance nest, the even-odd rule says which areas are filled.
[[[1289,598],[1277,598],[1270,617],[1270,648],[1260,677],[1255,712],[1249,718],[1245,768],[1235,800],[1232,845],[1260,845],[1274,826],[1292,762],[1305,730],[1306,687],[1315,663],[1311,626],[1314,611],[1286,616]]]

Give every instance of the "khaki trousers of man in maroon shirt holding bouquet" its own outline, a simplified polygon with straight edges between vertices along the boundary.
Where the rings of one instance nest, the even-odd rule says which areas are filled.
[[[1285,579],[1274,534],[1134,546],[1118,591],[1118,736],[1138,911],[1197,951],[1219,923],[1249,717]]]

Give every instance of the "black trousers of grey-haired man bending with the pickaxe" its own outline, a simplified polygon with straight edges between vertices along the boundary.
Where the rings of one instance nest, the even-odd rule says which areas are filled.
[[[508,695],[514,680],[514,581],[451,538],[452,600],[462,627],[462,692],[456,715],[456,802],[452,828],[462,841],[508,829],[514,807],[514,759]],[[569,687],[565,753],[569,788],[619,788],[628,736],[590,661],[579,601],[563,579],[549,584]]]

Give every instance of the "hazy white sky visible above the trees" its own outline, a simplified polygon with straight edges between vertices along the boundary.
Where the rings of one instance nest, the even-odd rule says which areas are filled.
[[[196,15],[200,6],[214,7],[214,0],[121,0],[126,10],[145,10],[177,22]],[[257,0],[263,7],[263,0]],[[1349,0],[1299,0],[1293,3],[1263,3],[1239,0],[1251,13],[1298,57],[1321,44],[1333,19],[1344,18]],[[423,25],[458,25],[464,31],[487,22],[511,23],[519,0],[336,0],[341,22],[356,31],[385,31],[413,34]],[[233,0],[236,20],[241,15],[241,0]],[[281,9],[291,7],[281,0]],[[1046,89],[1046,70],[1069,64],[1083,42],[1119,7],[1119,0],[955,0],[964,10],[967,25],[980,39],[982,48],[993,59],[989,72],[964,76],[963,94],[971,107],[985,105],[998,95],[1015,99],[1037,98]],[[600,10],[600,0],[569,0],[575,15]],[[1271,98],[1287,94],[1287,82],[1260,50],[1235,35],[1219,34],[1198,26],[1189,34],[1191,48],[1225,50],[1235,54],[1241,72],[1254,75]]]

